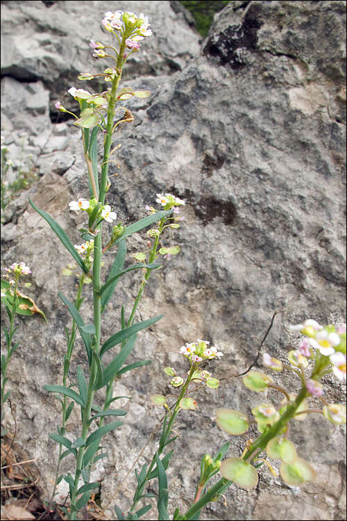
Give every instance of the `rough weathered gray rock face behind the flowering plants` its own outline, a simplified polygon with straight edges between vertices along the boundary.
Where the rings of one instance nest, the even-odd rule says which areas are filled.
[[[210,365],[224,380],[218,393],[207,390],[196,397],[198,412],[183,411],[179,417],[181,437],[169,480],[172,506],[184,511],[194,495],[201,457],[228,440],[214,422],[216,408],[250,413],[264,399],[246,392],[232,375],[254,360],[274,311],[279,313],[262,349],[282,361],[297,345],[289,324],[307,317],[344,322],[346,2],[230,2],[200,50],[197,35],[169,2],[80,0],[50,8],[38,1],[20,8],[17,2],[2,3],[3,36],[12,40],[3,56],[1,129],[11,154],[18,151],[19,132],[26,131],[25,147],[40,176],[6,208],[3,265],[25,261],[31,266],[31,295],[49,318],[48,326],[36,317],[20,320],[9,387],[21,419],[17,436],[37,458],[48,490],[56,448],[47,433],[56,429],[59,408],[42,387],[61,383],[63,328],[69,319],[58,291],[73,298],[74,281],[62,276],[70,259],[26,198],[51,213],[74,244],[79,242],[83,221],[69,213],[67,203],[87,197],[80,132],[71,121],[51,124],[49,107],[62,96],[67,78],[68,85],[77,86],[78,72],[100,67],[90,61],[85,40],[101,40],[104,11],[118,8],[148,13],[156,35],[142,46],[125,78],[152,95],[125,102],[135,122],[115,133],[120,168],[110,165],[108,202],[124,224],[144,217],[144,206],[155,204],[157,192],[172,192],[187,206],[181,228],[165,238],[165,245],[179,243],[182,251],[151,276],[137,315],[144,320],[164,313],[152,331],[139,335],[131,360],[151,358],[152,364],[115,385],[115,395],[133,399],[119,402],[129,413],[124,427],[109,436],[109,457],[96,468],[95,479],[102,480],[103,506],[111,501],[127,508],[133,478],[121,482],[160,417],[149,406],[149,395],[171,392],[163,367],[185,374],[179,347],[205,338],[224,353],[222,361]],[[87,19],[90,25],[81,22],[76,31],[76,20]],[[20,44],[24,38],[17,37],[19,27],[26,31],[26,51]],[[135,78],[135,72],[142,77]],[[145,247],[145,234],[135,235],[129,253]],[[105,270],[110,262],[112,255],[105,256]],[[139,280],[129,276],[117,287],[103,338],[119,329],[121,304],[130,312]],[[87,297],[90,292],[88,287]],[[85,320],[91,316],[87,297]],[[84,358],[78,343],[72,374],[85,365]],[[298,390],[290,375],[274,378]],[[343,401],[344,386],[335,379],[327,377],[325,388],[328,402]],[[280,398],[269,392],[269,400]],[[71,436],[78,435],[74,414]],[[343,429],[309,416],[294,423],[290,437],[319,474],[316,483],[299,491],[261,470],[257,490],[230,488],[226,506],[212,503],[203,519],[344,519]],[[250,436],[255,438],[255,431],[233,438],[230,455],[238,455]],[[139,464],[152,450],[147,447]],[[112,518],[112,511],[107,513]]]

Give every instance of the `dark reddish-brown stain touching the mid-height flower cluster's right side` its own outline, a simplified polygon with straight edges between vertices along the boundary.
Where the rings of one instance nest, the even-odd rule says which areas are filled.
[[[196,217],[201,220],[203,226],[206,226],[216,217],[220,217],[226,226],[235,225],[237,211],[235,204],[231,201],[220,201],[212,195],[203,195],[196,202],[196,197],[192,190],[186,189],[182,194],[178,193],[176,188],[171,187],[169,192],[176,195],[176,197],[180,197],[180,199],[184,199],[193,208]]]

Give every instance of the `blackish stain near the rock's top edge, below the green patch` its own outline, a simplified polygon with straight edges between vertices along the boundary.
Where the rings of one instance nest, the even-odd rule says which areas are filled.
[[[212,34],[203,53],[217,58],[221,65],[229,65],[233,70],[245,67],[244,53],[257,49],[257,30],[262,25],[257,19],[257,6],[252,7],[248,9],[242,24],[229,26],[221,33]]]

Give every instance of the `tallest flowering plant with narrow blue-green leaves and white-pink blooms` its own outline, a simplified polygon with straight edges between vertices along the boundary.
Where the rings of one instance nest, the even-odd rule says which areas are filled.
[[[74,116],[76,126],[81,128],[83,151],[86,163],[86,191],[78,195],[76,200],[69,203],[69,211],[83,213],[86,224],[79,231],[81,233],[81,244],[74,245],[67,233],[61,226],[44,210],[37,208],[29,199],[31,206],[51,226],[58,238],[74,259],[76,266],[81,271],[76,299],[70,301],[59,294],[63,304],[67,307],[73,322],[71,329],[66,329],[67,352],[64,359],[64,374],[62,385],[46,385],[44,388],[55,393],[62,404],[62,422],[57,433],[51,433],[50,438],[59,444],[58,466],[56,486],[62,479],[69,485],[69,510],[66,510],[70,520],[76,519],[80,511],[90,499],[92,490],[99,488],[99,482],[90,482],[92,465],[99,458],[105,456],[101,439],[103,436],[121,427],[120,420],[103,424],[106,417],[119,417],[126,415],[126,411],[110,408],[111,404],[119,397],[113,397],[113,383],[124,372],[146,365],[149,361],[139,361],[124,365],[132,352],[137,332],[158,322],[162,315],[158,315],[141,322],[135,321],[137,306],[144,292],[146,283],[153,270],[158,270],[161,265],[158,258],[164,256],[169,258],[180,251],[178,245],[167,247],[162,243],[162,234],[167,228],[175,229],[180,226],[179,221],[183,219],[178,215],[178,206],[184,205],[185,201],[172,194],[157,194],[157,203],[160,208],[147,206],[149,215],[143,219],[124,226],[115,224],[117,214],[112,207],[112,201],[108,201],[108,190],[110,178],[108,167],[113,160],[112,154],[119,149],[119,145],[112,143],[113,134],[119,124],[132,122],[134,117],[130,110],[123,106],[123,101],[131,97],[148,97],[149,91],[134,91],[131,88],[119,88],[122,72],[130,56],[139,51],[142,40],[151,36],[148,18],[130,12],[117,11],[116,13],[105,13],[103,27],[115,37],[115,45],[106,45],[101,42],[90,41],[93,56],[102,60],[108,60],[109,65],[101,73],[81,72],[78,79],[81,81],[103,78],[105,90],[99,93],[88,92],[75,87],[69,88],[69,94],[80,106],[80,113],[74,114],[63,107],[60,102],[56,108],[62,113],[70,113]],[[98,140],[103,142],[103,157],[101,165],[98,163]],[[113,148],[112,148],[113,147]],[[87,191],[89,190],[89,195]],[[133,256],[139,261],[124,267],[127,252],[127,239],[133,233],[149,228],[147,232],[147,251],[140,251]],[[112,226],[103,240],[103,226]],[[114,261],[107,277],[102,277],[103,257],[117,251]],[[67,270],[71,272],[74,265],[69,265]],[[102,317],[105,309],[111,301],[115,292],[117,282],[121,276],[134,270],[144,273],[142,283],[139,286],[133,309],[127,317],[124,306],[120,309],[120,329],[110,336],[103,338]],[[92,308],[93,318],[85,322],[80,313],[83,299],[83,287],[85,283],[92,284]],[[78,366],[76,374],[71,374],[71,354],[76,341],[76,333],[80,333],[85,347],[88,372],[85,374],[83,367]],[[104,361],[104,355],[110,349],[119,346],[117,354],[108,364]],[[76,388],[76,390],[74,389]],[[101,392],[101,390],[105,390]],[[96,405],[96,395],[104,396],[103,406]],[[71,415],[74,406],[81,410],[81,432],[78,438],[70,440],[66,436],[66,422]],[[99,426],[96,427],[96,424]],[[74,470],[67,474],[59,475],[60,463],[66,456],[73,456]]]

